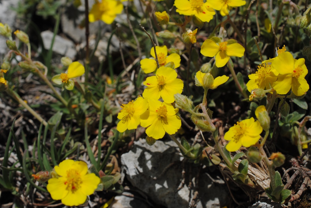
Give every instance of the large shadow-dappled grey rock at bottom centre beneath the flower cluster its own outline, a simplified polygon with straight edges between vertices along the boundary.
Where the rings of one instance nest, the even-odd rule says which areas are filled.
[[[121,172],[123,178],[145,192],[152,201],[168,208],[188,207],[192,200],[194,190],[189,190],[184,184],[177,192],[182,180],[182,160],[177,145],[173,141],[156,141],[149,146],[145,140],[134,142],[131,151],[121,155]],[[199,169],[192,163],[190,166],[193,176]],[[186,169],[187,167],[185,167]],[[122,180],[123,180],[122,178]],[[216,184],[206,174],[198,177],[196,184],[199,195],[197,208],[219,208],[226,205],[228,196],[224,184]],[[192,179],[193,184],[194,178]]]

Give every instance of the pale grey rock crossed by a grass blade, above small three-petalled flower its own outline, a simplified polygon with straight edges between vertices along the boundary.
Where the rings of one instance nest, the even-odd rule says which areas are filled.
[[[44,48],[48,49],[51,46],[53,32],[46,30],[41,32],[41,37],[43,40]],[[54,44],[53,44],[53,52],[58,53],[63,56],[67,56],[71,59],[74,59],[77,51],[75,49],[75,44],[69,39],[65,39],[59,35],[55,36]]]

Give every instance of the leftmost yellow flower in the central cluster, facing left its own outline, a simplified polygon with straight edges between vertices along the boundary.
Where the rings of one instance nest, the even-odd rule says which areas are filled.
[[[120,119],[120,121],[118,122],[117,130],[119,132],[124,132],[127,129],[137,129],[141,115],[145,113],[148,108],[148,102],[146,99],[139,97],[135,101],[123,104],[121,108],[122,110],[118,113],[118,119]]]

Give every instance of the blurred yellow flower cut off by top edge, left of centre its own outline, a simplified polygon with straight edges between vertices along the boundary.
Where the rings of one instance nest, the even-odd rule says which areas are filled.
[[[111,24],[116,18],[117,14],[121,14],[123,4],[116,0],[102,0],[101,2],[95,1],[90,13],[89,21],[95,22],[98,20],[106,24]]]

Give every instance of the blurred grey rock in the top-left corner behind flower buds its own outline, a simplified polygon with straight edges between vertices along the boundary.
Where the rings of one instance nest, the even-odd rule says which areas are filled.
[[[16,7],[19,0],[2,0],[0,3],[0,22],[2,24],[8,24],[12,28],[12,32],[16,28],[16,12],[11,7]],[[5,54],[7,49],[7,38],[0,35],[0,55]]]

